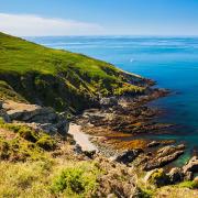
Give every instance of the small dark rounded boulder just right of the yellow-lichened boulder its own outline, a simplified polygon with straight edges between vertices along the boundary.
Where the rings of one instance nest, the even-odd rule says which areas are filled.
[[[184,180],[184,173],[179,167],[172,168],[168,176],[172,184],[177,184]]]

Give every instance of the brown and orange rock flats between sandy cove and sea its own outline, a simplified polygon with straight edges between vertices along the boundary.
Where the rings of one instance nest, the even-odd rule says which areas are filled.
[[[146,106],[148,101],[165,97],[164,89],[153,89],[147,95],[139,97],[102,98],[100,109],[89,109],[75,118],[85,133],[91,134],[92,141],[101,146],[114,150],[157,147],[174,141],[160,141],[152,144],[152,140],[142,139],[150,134],[170,133],[174,127],[160,123],[155,118],[161,113],[158,109]]]

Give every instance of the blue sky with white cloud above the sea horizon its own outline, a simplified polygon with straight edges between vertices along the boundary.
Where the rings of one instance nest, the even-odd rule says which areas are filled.
[[[1,0],[15,35],[198,35],[198,0]]]

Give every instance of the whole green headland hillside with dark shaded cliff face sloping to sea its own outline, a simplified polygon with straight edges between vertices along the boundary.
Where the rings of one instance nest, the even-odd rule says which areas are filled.
[[[111,64],[3,33],[0,33],[0,92],[7,85],[15,94],[15,99],[51,106],[56,110],[70,108],[80,111],[95,107],[99,94],[144,91],[141,87],[144,79]],[[6,98],[4,92],[1,96]]]

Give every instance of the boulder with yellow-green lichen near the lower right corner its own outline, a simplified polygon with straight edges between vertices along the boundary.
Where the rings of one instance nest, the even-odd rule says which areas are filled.
[[[148,172],[144,177],[144,182],[157,187],[170,184],[169,177],[165,174],[163,168]]]

